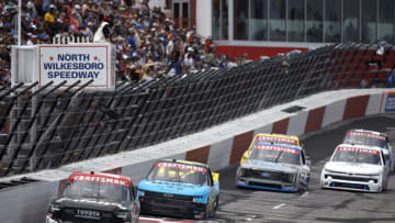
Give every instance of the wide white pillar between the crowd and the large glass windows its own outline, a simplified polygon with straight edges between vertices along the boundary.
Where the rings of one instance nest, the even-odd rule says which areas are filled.
[[[196,32],[204,37],[212,35],[212,0],[196,0]]]

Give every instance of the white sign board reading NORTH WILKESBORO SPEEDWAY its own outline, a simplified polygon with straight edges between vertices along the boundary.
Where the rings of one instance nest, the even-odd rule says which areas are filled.
[[[68,87],[81,80],[93,80],[89,89],[114,89],[115,59],[111,44],[38,45],[37,80],[41,86],[67,80]]]

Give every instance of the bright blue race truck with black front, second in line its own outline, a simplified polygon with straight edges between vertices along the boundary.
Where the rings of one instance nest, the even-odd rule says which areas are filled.
[[[137,187],[142,214],[190,219],[214,216],[219,202],[219,174],[205,164],[157,161]]]

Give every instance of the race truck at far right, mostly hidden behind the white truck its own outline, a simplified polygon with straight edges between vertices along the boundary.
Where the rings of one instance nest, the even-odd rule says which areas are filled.
[[[394,169],[393,153],[390,138],[386,134],[370,130],[349,130],[343,144],[377,146],[383,149],[387,171]]]

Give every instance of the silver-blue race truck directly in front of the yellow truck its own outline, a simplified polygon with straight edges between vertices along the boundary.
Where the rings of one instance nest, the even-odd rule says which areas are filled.
[[[307,190],[309,161],[300,146],[257,143],[237,169],[236,186],[276,191]]]

